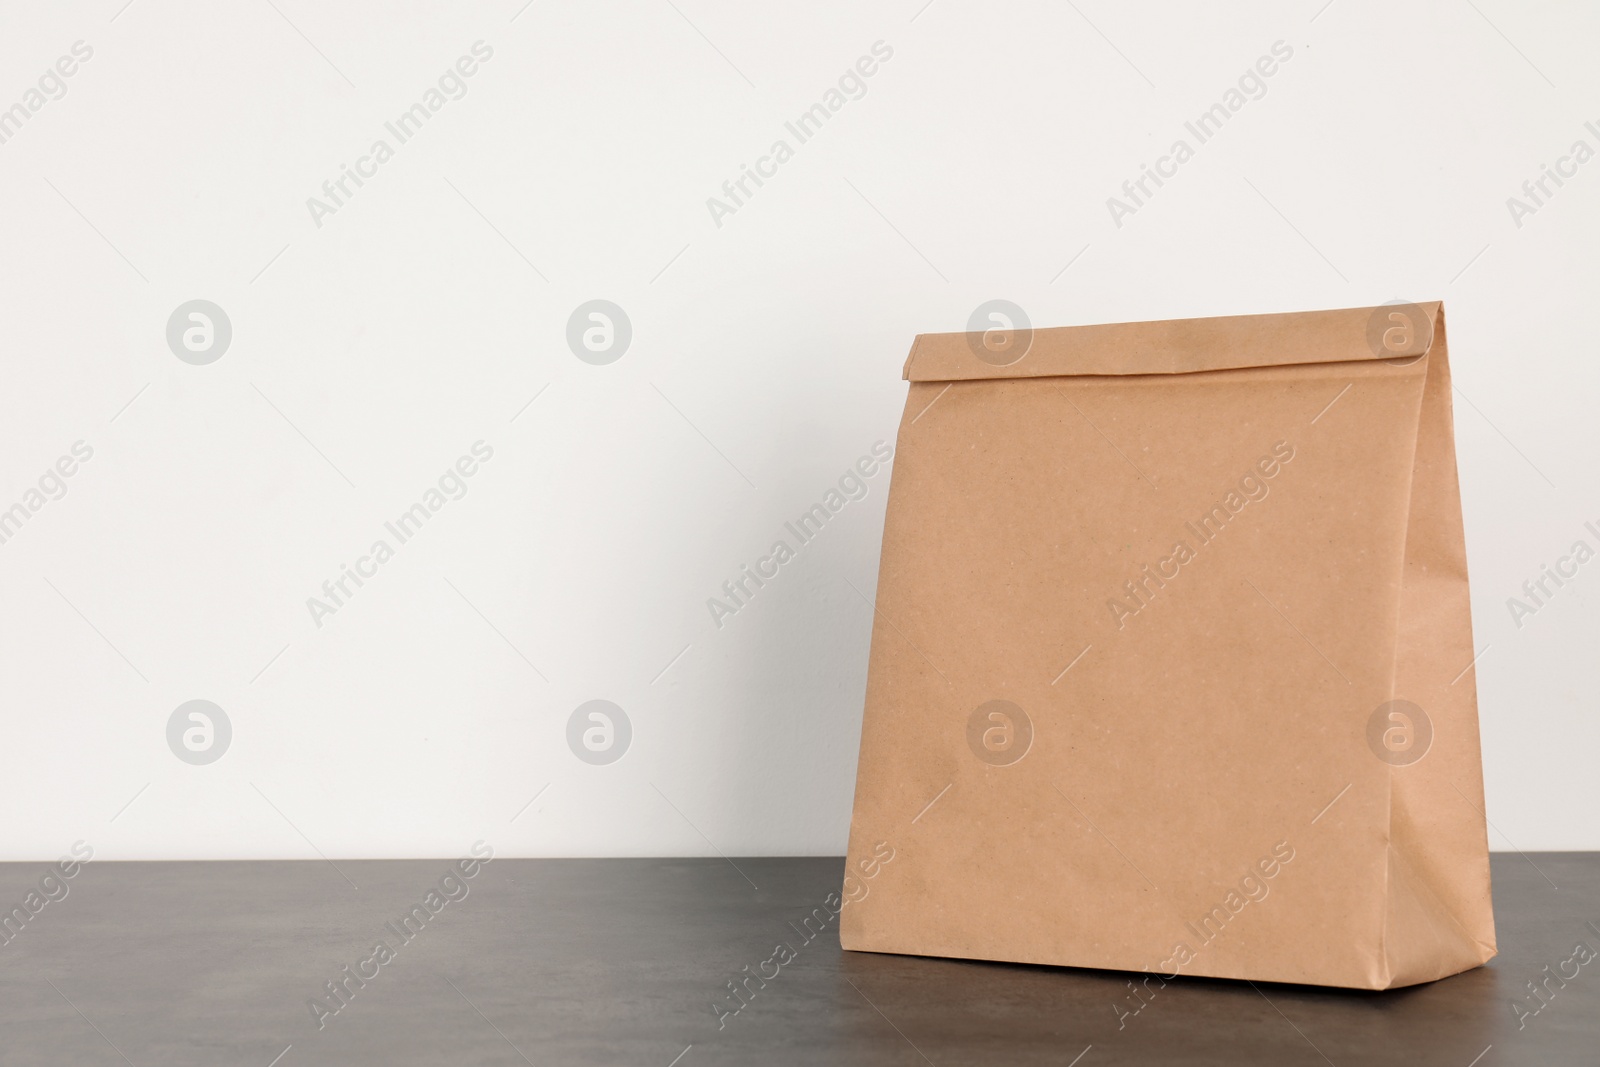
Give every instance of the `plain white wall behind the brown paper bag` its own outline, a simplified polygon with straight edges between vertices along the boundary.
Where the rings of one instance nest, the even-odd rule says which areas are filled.
[[[93,48],[0,144],[0,509],[93,450],[0,544],[0,857],[840,851],[888,474],[722,629],[706,598],[893,442],[912,334],[992,298],[1035,325],[1443,298],[1491,843],[1600,848],[1600,563],[1506,606],[1600,526],[1600,162],[1507,208],[1600,147],[1592,8],[122,5],[0,32],[0,107]],[[875,42],[866,94],[718,226],[707,197]],[[565,341],[595,298],[632,323],[605,366]],[[190,299],[232,323],[208,365],[166,342]],[[467,494],[314,624],[475,442]],[[168,749],[190,699],[232,723],[208,766]],[[590,699],[634,728],[610,766],[566,745]]]

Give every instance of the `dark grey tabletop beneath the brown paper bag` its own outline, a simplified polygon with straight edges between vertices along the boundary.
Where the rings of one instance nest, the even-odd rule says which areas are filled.
[[[1486,968],[1389,993],[1179,979],[1123,1017],[1117,973],[842,952],[803,925],[838,859],[46,872],[0,865],[26,915],[0,945],[3,1064],[1600,1062],[1600,960],[1566,963],[1600,950],[1600,854],[1496,856]]]

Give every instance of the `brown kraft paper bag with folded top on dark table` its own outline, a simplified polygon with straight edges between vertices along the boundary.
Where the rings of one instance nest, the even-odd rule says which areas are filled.
[[[1440,304],[925,334],[906,378],[845,949],[1494,955]]]

